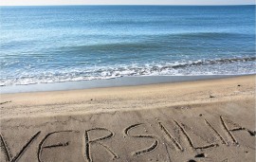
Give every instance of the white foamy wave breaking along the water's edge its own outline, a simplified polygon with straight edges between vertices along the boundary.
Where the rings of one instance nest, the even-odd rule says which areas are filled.
[[[35,71],[17,74],[15,79],[0,79],[0,86],[63,81],[108,80],[127,76],[193,76],[255,74],[256,57],[198,60],[176,63],[113,64],[90,68]]]

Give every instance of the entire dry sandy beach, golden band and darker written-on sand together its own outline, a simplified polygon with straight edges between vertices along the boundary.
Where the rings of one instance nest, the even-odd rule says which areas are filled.
[[[255,75],[1,95],[1,162],[255,161]]]

